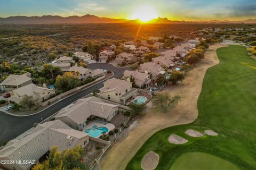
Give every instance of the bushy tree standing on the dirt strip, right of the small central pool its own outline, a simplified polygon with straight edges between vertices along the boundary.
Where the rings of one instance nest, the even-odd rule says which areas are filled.
[[[171,97],[167,92],[157,92],[152,100],[155,108],[160,108],[162,112],[167,113],[169,108],[174,108],[179,103],[180,97]]]

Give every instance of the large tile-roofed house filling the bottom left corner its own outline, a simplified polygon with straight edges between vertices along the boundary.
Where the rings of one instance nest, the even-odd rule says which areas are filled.
[[[60,120],[38,124],[19,137],[10,140],[0,149],[0,160],[35,160],[35,164],[53,146],[58,150],[75,146],[84,148],[89,143],[89,134],[70,128]],[[33,164],[0,164],[0,168],[27,170]]]

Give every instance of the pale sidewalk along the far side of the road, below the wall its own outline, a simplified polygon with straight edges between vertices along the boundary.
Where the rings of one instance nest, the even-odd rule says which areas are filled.
[[[101,82],[103,82],[103,81],[105,81],[105,80],[107,80],[107,79],[113,77],[113,76],[114,76],[114,73],[113,73],[113,72],[112,72],[112,74],[106,74],[106,75],[105,75],[105,77],[106,77],[105,79],[96,81],[96,82],[94,82],[93,84],[89,84],[88,86],[85,86],[83,89],[79,89],[79,90],[77,90],[77,91],[75,91],[75,92],[73,92],[73,93],[71,93],[71,94],[69,94],[69,95],[62,96],[62,97],[59,98],[58,100],[55,100],[55,101],[53,101],[52,103],[50,103],[50,105],[46,105],[46,106],[39,107],[36,111],[33,110],[33,111],[26,111],[26,112],[15,112],[15,111],[6,112],[6,111],[4,111],[4,108],[7,107],[7,106],[4,106],[4,108],[0,108],[0,109],[1,109],[2,112],[6,113],[6,114],[9,114],[9,115],[12,115],[12,116],[24,117],[24,116],[35,115],[35,114],[38,114],[38,113],[44,111],[45,109],[47,109],[47,108],[49,108],[49,107],[51,107],[51,106],[57,104],[59,101],[61,101],[61,100],[63,100],[63,99],[66,99],[66,98],[68,98],[68,97],[70,97],[70,96],[73,96],[73,95],[75,95],[75,94],[77,94],[77,93],[79,93],[79,92],[81,92],[81,91],[83,91],[83,90],[85,90],[85,89],[87,89],[87,88],[93,87],[93,86],[95,86],[95,85],[97,85],[97,84],[99,84],[99,83],[101,83]]]

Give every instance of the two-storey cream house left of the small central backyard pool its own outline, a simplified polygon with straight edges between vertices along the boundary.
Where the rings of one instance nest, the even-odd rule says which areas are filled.
[[[104,87],[100,90],[100,97],[115,103],[126,105],[137,96],[137,89],[132,88],[132,82],[120,79],[108,79],[103,82]]]

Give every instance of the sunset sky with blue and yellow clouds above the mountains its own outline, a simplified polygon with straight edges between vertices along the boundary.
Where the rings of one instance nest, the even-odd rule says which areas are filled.
[[[255,0],[0,0],[0,17],[27,15],[70,16],[93,14],[108,18],[134,18],[143,6],[169,20],[256,19]]]

